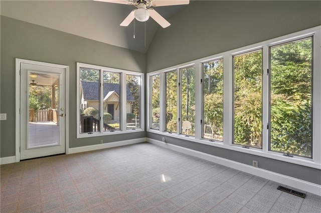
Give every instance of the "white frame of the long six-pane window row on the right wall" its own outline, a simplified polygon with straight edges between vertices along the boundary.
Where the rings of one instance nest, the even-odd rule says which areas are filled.
[[[313,78],[312,78],[312,158],[307,158],[303,156],[294,155],[293,157],[284,156],[283,153],[269,151],[269,139],[268,139],[268,129],[267,123],[269,122],[268,113],[268,102],[269,102],[269,79],[267,75],[267,69],[269,68],[269,47],[274,46],[279,43],[285,43],[290,41],[295,41],[300,38],[308,37],[313,35],[312,42],[312,51],[313,51]],[[294,32],[291,34],[287,34],[284,36],[276,37],[273,39],[265,40],[259,43],[251,44],[248,46],[244,46],[237,49],[232,49],[226,52],[214,54],[208,57],[200,58],[197,60],[189,61],[183,64],[179,64],[176,66],[167,67],[161,70],[153,71],[147,73],[147,88],[149,87],[149,76],[158,74],[160,75],[160,129],[151,129],[147,128],[148,132],[157,133],[161,135],[167,135],[175,138],[180,138],[184,140],[189,140],[193,142],[203,143],[207,145],[217,146],[221,148],[226,148],[230,150],[240,151],[244,153],[254,154],[258,156],[268,157],[272,159],[277,159],[285,162],[290,162],[294,164],[304,165],[312,168],[321,169],[321,143],[319,142],[319,138],[321,138],[321,119],[317,119],[321,117],[321,25],[313,28],[305,29],[302,31]],[[250,148],[242,148],[239,144],[232,143],[232,134],[233,134],[233,66],[232,66],[232,56],[240,54],[242,52],[249,52],[257,49],[262,50],[262,58],[263,58],[263,78],[262,78],[262,105],[264,106],[264,111],[262,112],[262,149],[250,147]],[[223,142],[221,141],[209,141],[209,139],[202,138],[202,126],[201,122],[198,122],[202,119],[202,63],[208,62],[215,59],[223,58]],[[185,137],[185,135],[179,134],[179,129],[177,133],[170,133],[165,131],[164,129],[164,119],[165,119],[165,85],[164,85],[164,73],[172,70],[177,70],[179,74],[179,69],[188,67],[190,65],[195,64],[195,94],[196,94],[196,125],[195,125],[195,137]],[[178,75],[180,76],[180,75]],[[147,91],[147,104],[150,102],[150,93]],[[179,94],[179,93],[178,93]],[[178,104],[178,108],[180,105]],[[178,113],[179,114],[179,113]],[[149,113],[147,113],[149,116]],[[149,119],[149,118],[148,118]],[[180,127],[180,123],[178,122],[178,128]]]

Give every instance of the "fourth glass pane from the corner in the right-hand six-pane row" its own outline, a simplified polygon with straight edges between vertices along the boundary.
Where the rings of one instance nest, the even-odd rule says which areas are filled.
[[[203,138],[223,141],[223,59],[203,63]]]

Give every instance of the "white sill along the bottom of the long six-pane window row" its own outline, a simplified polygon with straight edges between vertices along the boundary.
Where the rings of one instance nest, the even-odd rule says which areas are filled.
[[[219,141],[209,141],[207,139],[196,139],[195,137],[192,137],[192,136],[186,137],[185,135],[179,135],[177,133],[160,132],[160,131],[154,130],[154,129],[148,129],[147,132],[161,134],[164,136],[175,137],[175,138],[182,139],[182,140],[188,140],[188,141],[192,141],[192,142],[202,143],[205,145],[211,145],[211,146],[215,146],[215,147],[230,149],[230,150],[239,151],[239,152],[243,152],[243,153],[258,155],[258,156],[276,159],[276,160],[280,160],[280,161],[284,161],[284,162],[303,165],[303,166],[307,166],[307,167],[311,167],[311,168],[321,169],[321,164],[315,162],[313,159],[310,159],[310,158],[305,158],[305,157],[300,157],[300,156],[295,156],[295,155],[293,157],[288,157],[288,156],[284,156],[283,153],[279,153],[279,152],[274,152],[274,151],[264,152],[262,149],[254,148],[254,147],[242,148],[241,145],[235,145],[235,144],[227,145],[227,144],[223,144],[223,142],[219,142]]]

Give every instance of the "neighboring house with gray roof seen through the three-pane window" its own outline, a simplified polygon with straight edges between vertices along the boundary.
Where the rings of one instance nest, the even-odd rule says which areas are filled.
[[[118,83],[104,83],[104,112],[112,115],[112,120],[119,122],[119,89]],[[131,112],[131,103],[134,101],[129,87],[126,86],[127,101],[126,112]],[[82,111],[88,107],[99,109],[99,82],[94,81],[80,81],[81,94],[81,109]]]

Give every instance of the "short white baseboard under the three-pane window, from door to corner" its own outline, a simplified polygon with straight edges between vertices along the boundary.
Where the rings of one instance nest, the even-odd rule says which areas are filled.
[[[129,144],[134,144],[139,142],[146,142],[146,137],[69,148],[68,154],[78,153],[83,151],[92,151],[92,150],[103,149],[103,148],[111,148],[111,147],[122,146],[122,145],[129,145]]]

